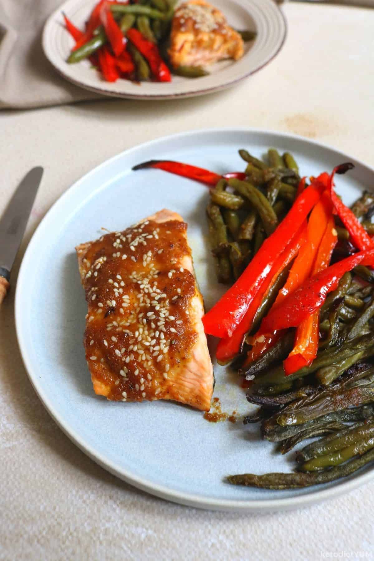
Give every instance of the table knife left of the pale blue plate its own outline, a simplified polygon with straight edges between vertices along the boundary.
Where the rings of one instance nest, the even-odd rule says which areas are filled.
[[[0,220],[0,305],[10,288],[10,273],[43,176],[38,166],[26,174]]]

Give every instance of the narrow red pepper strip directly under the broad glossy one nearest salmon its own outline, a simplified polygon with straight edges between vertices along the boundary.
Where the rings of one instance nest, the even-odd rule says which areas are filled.
[[[255,318],[256,311],[260,306],[261,301],[264,297],[266,297],[266,294],[269,292],[271,286],[273,286],[283,269],[287,267],[287,265],[289,265],[289,263],[294,259],[295,255],[297,255],[300,247],[305,241],[305,238],[306,224],[303,223],[301,228],[299,228],[299,231],[295,234],[287,247],[285,247],[284,251],[281,252],[279,257],[275,260],[269,278],[266,279],[264,284],[262,284],[262,287],[258,291],[256,297],[253,298],[246,315],[232,334],[232,337],[225,337],[218,343],[216,358],[221,364],[226,364],[238,354],[244,337],[251,329],[253,318]]]

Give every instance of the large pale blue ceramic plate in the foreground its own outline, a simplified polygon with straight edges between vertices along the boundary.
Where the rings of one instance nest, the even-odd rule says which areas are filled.
[[[167,207],[188,223],[188,238],[207,309],[223,289],[215,279],[207,243],[207,188],[159,170],[132,172],[151,158],[174,159],[219,173],[243,169],[238,149],[257,155],[269,146],[292,152],[303,174],[331,170],[350,158],[300,137],[272,132],[208,130],[136,146],[77,181],[36,230],[16,290],[16,326],[31,383],[62,430],[84,452],[123,480],[155,495],[196,507],[265,511],[293,508],[353,489],[374,475],[363,469],[325,486],[267,491],[225,483],[229,473],[290,471],[293,453],[281,456],[260,439],[258,425],[212,424],[173,402],[114,403],[93,393],[82,336],[86,302],[74,247],[98,238],[101,227],[122,230]],[[353,160],[354,161],[354,160]],[[372,188],[374,172],[362,163],[337,178],[346,203]],[[214,395],[223,411],[252,410],[237,375],[215,365]]]

